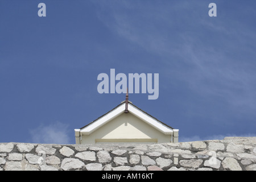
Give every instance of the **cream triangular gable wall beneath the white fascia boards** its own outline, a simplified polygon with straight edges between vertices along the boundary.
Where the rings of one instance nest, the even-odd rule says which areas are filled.
[[[100,142],[154,142],[171,140],[154,127],[131,113],[122,113],[82,139],[86,143]],[[87,141],[86,141],[87,140]]]

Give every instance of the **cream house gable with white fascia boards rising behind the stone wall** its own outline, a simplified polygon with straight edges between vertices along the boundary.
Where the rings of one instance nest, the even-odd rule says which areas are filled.
[[[101,142],[172,142],[178,130],[160,122],[129,101],[121,103],[100,118],[75,129],[76,143]]]

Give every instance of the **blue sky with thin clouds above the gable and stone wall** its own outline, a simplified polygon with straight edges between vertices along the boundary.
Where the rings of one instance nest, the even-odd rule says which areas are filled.
[[[38,4],[46,4],[46,17]],[[209,3],[217,17],[208,15]],[[0,1],[0,142],[75,143],[125,100],[100,73],[159,73],[129,100],[180,141],[256,136],[256,1]],[[56,137],[60,136],[60,137]]]

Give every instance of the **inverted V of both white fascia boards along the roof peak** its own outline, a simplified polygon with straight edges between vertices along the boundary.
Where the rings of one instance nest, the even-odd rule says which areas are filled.
[[[127,107],[128,104],[129,107]],[[101,117],[97,118],[88,125],[81,127],[80,132],[82,133],[82,135],[90,135],[91,133],[93,133],[93,131],[104,126],[109,121],[112,121],[112,119],[118,117],[123,113],[126,113],[126,108],[129,111],[129,113],[135,115],[135,117],[138,117],[148,125],[162,132],[163,134],[170,135],[173,133],[174,129],[171,126],[168,126],[166,125],[166,123],[163,123],[155,117],[152,117],[152,115],[146,113],[142,109],[139,109],[139,107],[135,106],[131,101],[127,100],[121,102],[121,104],[114,107],[114,109],[110,110],[108,113],[102,115]]]

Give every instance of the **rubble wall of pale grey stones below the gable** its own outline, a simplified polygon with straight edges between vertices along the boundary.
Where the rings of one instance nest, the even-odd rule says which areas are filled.
[[[0,171],[256,170],[256,137],[162,144],[0,143]]]

